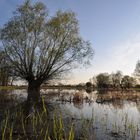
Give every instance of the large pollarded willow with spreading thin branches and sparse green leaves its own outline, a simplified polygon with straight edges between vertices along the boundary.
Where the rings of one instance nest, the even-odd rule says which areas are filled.
[[[25,1],[1,29],[1,41],[14,75],[28,82],[28,99],[38,100],[42,83],[52,80],[93,54],[79,34],[73,12],[49,16],[46,6]]]

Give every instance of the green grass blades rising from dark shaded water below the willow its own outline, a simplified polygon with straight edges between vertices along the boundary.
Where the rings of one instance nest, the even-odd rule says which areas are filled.
[[[30,112],[30,110],[32,111]],[[73,124],[64,126],[61,113],[53,111],[51,118],[44,99],[40,108],[32,106],[30,110],[18,107],[14,112],[5,111],[0,122],[0,135],[2,140],[33,139],[33,140],[74,140]],[[66,128],[66,130],[65,130]]]

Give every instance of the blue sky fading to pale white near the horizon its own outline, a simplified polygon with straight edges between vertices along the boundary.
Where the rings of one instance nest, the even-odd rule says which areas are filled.
[[[32,0],[36,2],[37,0]],[[71,10],[79,21],[80,35],[95,51],[91,65],[72,71],[67,83],[89,81],[101,72],[131,75],[140,59],[140,0],[40,0],[50,15]],[[0,0],[0,28],[24,0]]]

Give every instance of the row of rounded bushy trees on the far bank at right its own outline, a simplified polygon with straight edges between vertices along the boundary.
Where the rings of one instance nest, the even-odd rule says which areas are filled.
[[[138,86],[136,76],[123,75],[121,71],[116,73],[100,73],[90,81],[99,89],[121,89],[126,90]]]

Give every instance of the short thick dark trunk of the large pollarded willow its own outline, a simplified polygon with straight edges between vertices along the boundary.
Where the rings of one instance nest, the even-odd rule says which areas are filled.
[[[38,102],[40,99],[40,84],[36,81],[28,83],[28,101]]]

